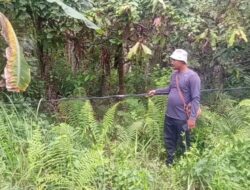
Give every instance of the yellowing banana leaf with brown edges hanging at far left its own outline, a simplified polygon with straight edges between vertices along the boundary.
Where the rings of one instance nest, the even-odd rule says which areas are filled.
[[[15,31],[7,19],[0,12],[0,26],[2,36],[8,47],[6,48],[7,63],[2,74],[1,87],[6,87],[8,91],[23,92],[30,83],[30,68],[27,64],[22,48],[19,45]],[[0,63],[0,65],[3,63]]]

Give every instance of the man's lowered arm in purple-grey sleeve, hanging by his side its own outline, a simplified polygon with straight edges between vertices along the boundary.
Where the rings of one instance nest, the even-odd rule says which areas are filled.
[[[191,114],[189,120],[195,122],[197,112],[200,107],[200,88],[201,80],[200,77],[195,74],[190,78],[190,93],[191,93]]]

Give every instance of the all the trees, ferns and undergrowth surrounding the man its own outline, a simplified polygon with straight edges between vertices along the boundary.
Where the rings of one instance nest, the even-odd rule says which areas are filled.
[[[0,12],[32,77],[23,93],[1,87],[0,189],[249,189],[248,0],[1,0]],[[166,86],[175,48],[219,90],[202,92],[192,148],[167,168],[165,96],[81,98]]]

